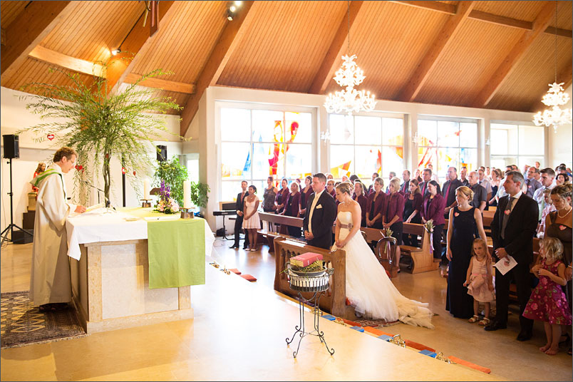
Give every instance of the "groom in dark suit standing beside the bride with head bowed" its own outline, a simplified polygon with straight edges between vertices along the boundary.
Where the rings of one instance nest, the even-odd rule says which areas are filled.
[[[336,220],[336,203],[328,192],[324,192],[326,176],[319,172],[312,177],[314,194],[306,204],[303,221],[304,238],[309,245],[330,249],[332,246],[332,226]]]

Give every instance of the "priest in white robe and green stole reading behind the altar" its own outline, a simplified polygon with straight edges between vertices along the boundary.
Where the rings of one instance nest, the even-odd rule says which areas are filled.
[[[40,311],[65,309],[71,301],[71,276],[68,258],[66,218],[71,212],[86,212],[86,207],[68,203],[67,174],[76,165],[73,148],[61,148],[53,164],[31,180],[38,187],[34,221],[30,300]]]

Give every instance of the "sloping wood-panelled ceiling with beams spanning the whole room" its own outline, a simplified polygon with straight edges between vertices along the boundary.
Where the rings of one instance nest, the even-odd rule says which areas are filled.
[[[136,53],[111,85],[155,68],[145,86],[185,109],[182,133],[212,85],[326,94],[347,53],[346,1],[160,1],[159,29],[143,1],[0,1],[1,86],[66,84],[58,66],[93,81],[110,51]],[[350,53],[378,99],[535,111],[554,81],[572,83],[572,1],[351,1]],[[149,20],[147,21],[150,22]],[[124,53],[125,54],[125,53]],[[176,113],[176,112],[174,112]]]

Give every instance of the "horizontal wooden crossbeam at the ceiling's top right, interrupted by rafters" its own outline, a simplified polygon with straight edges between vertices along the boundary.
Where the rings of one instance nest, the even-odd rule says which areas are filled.
[[[397,4],[403,4],[407,6],[414,6],[419,9],[428,9],[430,11],[437,11],[443,14],[455,14],[455,6],[453,4],[440,3],[438,1],[391,1]],[[462,3],[463,1],[460,1]],[[533,29],[533,23],[531,21],[524,21],[518,19],[512,19],[511,17],[500,16],[497,14],[489,14],[484,11],[478,11],[474,9],[470,12],[468,19],[474,19],[479,21],[485,21],[486,23],[497,24],[501,26],[509,26],[511,28],[524,29],[531,31]],[[543,31],[547,34],[555,34],[554,26],[547,26]],[[573,38],[573,31],[568,29],[557,28],[557,36]]]

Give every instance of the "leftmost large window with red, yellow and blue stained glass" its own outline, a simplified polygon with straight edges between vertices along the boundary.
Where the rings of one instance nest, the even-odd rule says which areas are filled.
[[[234,200],[241,180],[262,199],[267,177],[280,184],[311,174],[312,113],[221,108],[222,200]]]

